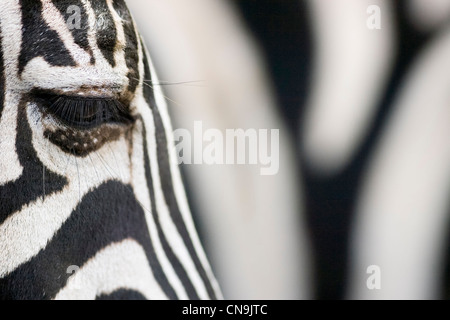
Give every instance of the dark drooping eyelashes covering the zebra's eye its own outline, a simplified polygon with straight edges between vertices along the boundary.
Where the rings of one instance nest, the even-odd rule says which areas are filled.
[[[87,130],[106,123],[131,124],[133,117],[116,99],[74,97],[51,93],[34,94],[45,113],[52,114],[64,125]]]

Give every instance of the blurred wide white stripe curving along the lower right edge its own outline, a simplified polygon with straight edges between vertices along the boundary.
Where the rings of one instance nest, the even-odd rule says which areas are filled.
[[[375,150],[352,235],[352,298],[440,295],[449,223],[449,56],[447,28],[418,57]],[[371,264],[381,268],[380,290],[366,287]]]

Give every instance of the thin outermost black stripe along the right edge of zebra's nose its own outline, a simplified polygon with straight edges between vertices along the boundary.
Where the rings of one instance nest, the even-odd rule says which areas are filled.
[[[147,60],[147,56],[144,54],[144,68],[145,68],[145,79],[151,80],[150,67]],[[155,125],[155,138],[157,146],[157,156],[158,156],[158,166],[159,174],[161,177],[161,187],[163,189],[164,198],[166,204],[170,211],[170,216],[177,227],[178,232],[183,238],[184,244],[189,251],[190,256],[199,272],[201,279],[203,280],[206,290],[211,299],[216,299],[216,294],[212,288],[211,282],[206,275],[206,271],[198,258],[197,252],[195,251],[194,245],[190,238],[189,232],[183,221],[183,217],[178,208],[177,198],[175,196],[174,188],[172,185],[172,173],[170,171],[170,161],[169,154],[167,150],[167,137],[164,129],[164,125],[161,119],[161,115],[156,106],[155,97],[153,89],[149,86],[144,85],[144,97],[147,104],[150,106],[153,112],[154,125]]]

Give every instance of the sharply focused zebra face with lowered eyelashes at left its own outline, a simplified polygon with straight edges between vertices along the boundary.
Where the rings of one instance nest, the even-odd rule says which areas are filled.
[[[1,1],[0,299],[222,298],[157,83],[124,0]]]

